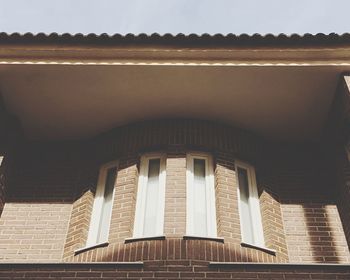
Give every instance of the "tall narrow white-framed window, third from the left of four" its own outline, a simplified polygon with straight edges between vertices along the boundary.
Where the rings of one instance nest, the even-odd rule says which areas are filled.
[[[187,155],[187,235],[216,237],[213,161],[208,155]]]

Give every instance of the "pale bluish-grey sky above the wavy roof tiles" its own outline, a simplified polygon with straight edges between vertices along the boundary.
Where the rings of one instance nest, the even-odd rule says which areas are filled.
[[[0,32],[345,33],[349,0],[0,0]]]

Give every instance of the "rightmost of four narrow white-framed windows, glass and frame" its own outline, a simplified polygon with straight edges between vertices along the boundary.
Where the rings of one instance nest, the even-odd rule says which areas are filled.
[[[260,205],[254,167],[236,161],[242,242],[264,246]]]

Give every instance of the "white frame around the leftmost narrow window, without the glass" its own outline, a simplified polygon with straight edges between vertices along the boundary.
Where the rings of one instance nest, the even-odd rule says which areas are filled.
[[[109,233],[107,234],[106,240],[97,241],[97,236],[98,236],[98,233],[100,230],[99,225],[100,225],[101,212],[102,212],[102,207],[103,207],[103,202],[104,202],[104,191],[105,191],[107,174],[108,174],[108,170],[111,168],[116,168],[118,171],[118,161],[108,162],[108,163],[102,165],[100,168],[98,181],[97,181],[97,187],[96,187],[96,193],[95,193],[95,199],[94,199],[94,205],[92,208],[89,234],[88,234],[88,238],[86,241],[86,247],[108,242]],[[116,178],[117,178],[117,174],[116,174]],[[109,213],[109,219],[108,219],[109,222],[106,225],[107,232],[109,232],[110,223],[111,223],[114,194],[115,194],[115,188],[113,189],[113,194],[112,194],[112,207],[111,207],[111,211]]]

